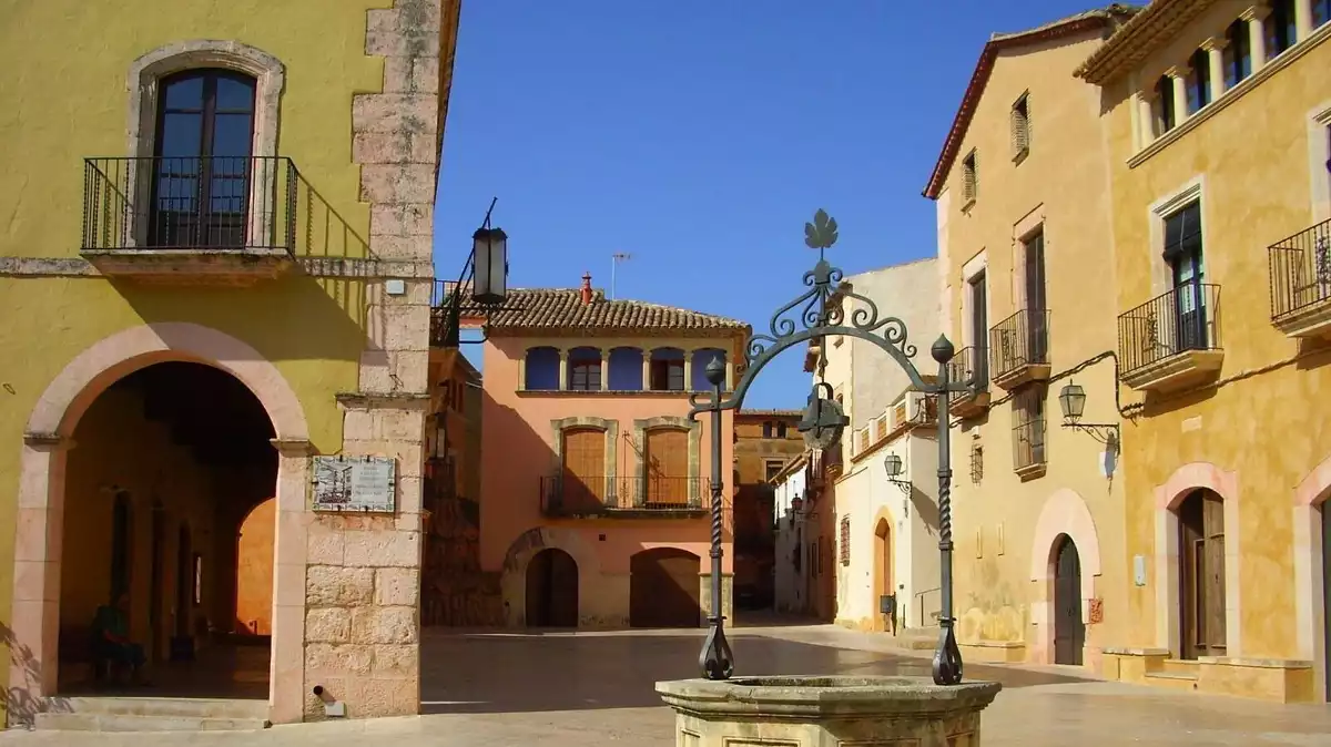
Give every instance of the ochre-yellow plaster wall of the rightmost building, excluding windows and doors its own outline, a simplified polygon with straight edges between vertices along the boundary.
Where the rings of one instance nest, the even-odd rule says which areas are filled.
[[[1239,4],[1242,5],[1242,4]],[[1223,12],[1222,12],[1223,11]],[[1218,4],[1143,65],[1142,80],[1190,53],[1202,39],[1223,31],[1238,13]],[[1327,37],[1323,27],[1320,40]],[[1271,326],[1267,246],[1314,223],[1310,171],[1310,112],[1331,108],[1331,45],[1315,48],[1259,85],[1227,92],[1195,129],[1163,145],[1143,162],[1129,165],[1133,100],[1127,77],[1105,89],[1106,128],[1113,145],[1114,237],[1118,308],[1133,308],[1161,291],[1158,238],[1149,207],[1201,177],[1203,255],[1207,283],[1221,286],[1219,330],[1225,350],[1219,388],[1209,387],[1169,400],[1147,400],[1126,440],[1129,554],[1153,558],[1157,510],[1154,489],[1182,465],[1210,463],[1236,472],[1239,526],[1240,647],[1244,657],[1302,658],[1295,651],[1294,486],[1331,455],[1331,358],[1292,359],[1300,344]],[[1206,110],[1203,110],[1206,112]],[[1323,133],[1322,137],[1326,137]],[[1310,348],[1304,348],[1310,350]],[[1278,367],[1262,372],[1266,367]],[[1125,403],[1141,400],[1129,393]],[[1227,537],[1227,545],[1233,537]],[[1133,645],[1158,639],[1154,565],[1143,587],[1129,593]],[[1319,631],[1320,634],[1320,631]],[[1234,641],[1231,631],[1230,641]],[[1233,654],[1231,654],[1233,655]]]

